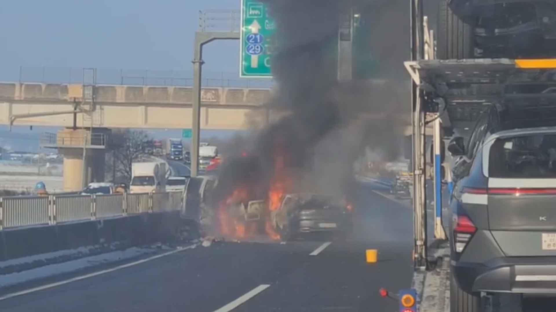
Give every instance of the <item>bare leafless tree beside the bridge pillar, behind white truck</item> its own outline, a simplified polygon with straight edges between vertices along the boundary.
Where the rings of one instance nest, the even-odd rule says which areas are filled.
[[[122,130],[112,132],[112,142],[116,164],[114,180],[131,180],[131,164],[144,157],[150,137],[143,130]]]

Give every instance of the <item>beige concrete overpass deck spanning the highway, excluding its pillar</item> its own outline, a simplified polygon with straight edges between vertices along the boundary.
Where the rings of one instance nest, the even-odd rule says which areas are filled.
[[[93,100],[87,101],[87,92]],[[201,128],[247,129],[268,123],[270,89],[203,88]],[[0,124],[77,127],[191,128],[191,87],[0,83]]]

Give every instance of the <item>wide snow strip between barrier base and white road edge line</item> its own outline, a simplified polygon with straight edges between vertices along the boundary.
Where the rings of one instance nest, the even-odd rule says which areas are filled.
[[[162,249],[169,250],[172,248],[162,246]],[[137,256],[141,255],[154,254],[160,250],[161,248],[158,248],[157,246],[149,246],[146,248],[132,247],[125,250],[112,251],[110,253],[89,256],[86,258],[71,260],[64,263],[45,265],[41,266],[40,268],[21,271],[17,273],[3,274],[0,275],[0,288],[24,283],[26,281],[46,278],[48,276],[70,273],[84,268],[90,268],[91,266],[96,266],[99,264],[136,258]]]

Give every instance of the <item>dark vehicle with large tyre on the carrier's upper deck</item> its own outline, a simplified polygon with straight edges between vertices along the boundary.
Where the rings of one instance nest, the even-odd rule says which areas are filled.
[[[440,0],[438,58],[548,57],[556,49],[556,3]]]

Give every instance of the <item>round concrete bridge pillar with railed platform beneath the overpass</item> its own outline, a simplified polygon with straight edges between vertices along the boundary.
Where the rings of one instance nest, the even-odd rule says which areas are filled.
[[[43,138],[41,146],[63,155],[64,191],[80,190],[91,182],[104,182],[108,129],[61,129]]]

